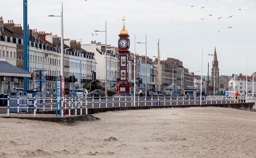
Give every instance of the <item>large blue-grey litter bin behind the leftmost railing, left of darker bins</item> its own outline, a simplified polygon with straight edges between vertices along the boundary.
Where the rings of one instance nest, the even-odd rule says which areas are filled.
[[[27,107],[27,101],[25,99],[26,96],[24,96],[26,92],[24,93],[23,91],[13,91],[9,92],[9,98],[10,98],[10,112],[18,112],[18,96],[19,96],[19,112],[26,111],[26,108],[22,107]]]

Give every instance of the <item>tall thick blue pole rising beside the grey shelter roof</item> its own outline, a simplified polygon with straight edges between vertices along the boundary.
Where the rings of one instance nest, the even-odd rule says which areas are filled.
[[[23,68],[28,71],[27,61],[27,0],[23,0]],[[28,90],[28,78],[23,78],[24,90]]]

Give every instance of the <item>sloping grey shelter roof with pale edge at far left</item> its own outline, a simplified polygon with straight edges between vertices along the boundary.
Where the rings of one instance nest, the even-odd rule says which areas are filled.
[[[31,77],[31,72],[8,62],[0,61],[0,76]]]

